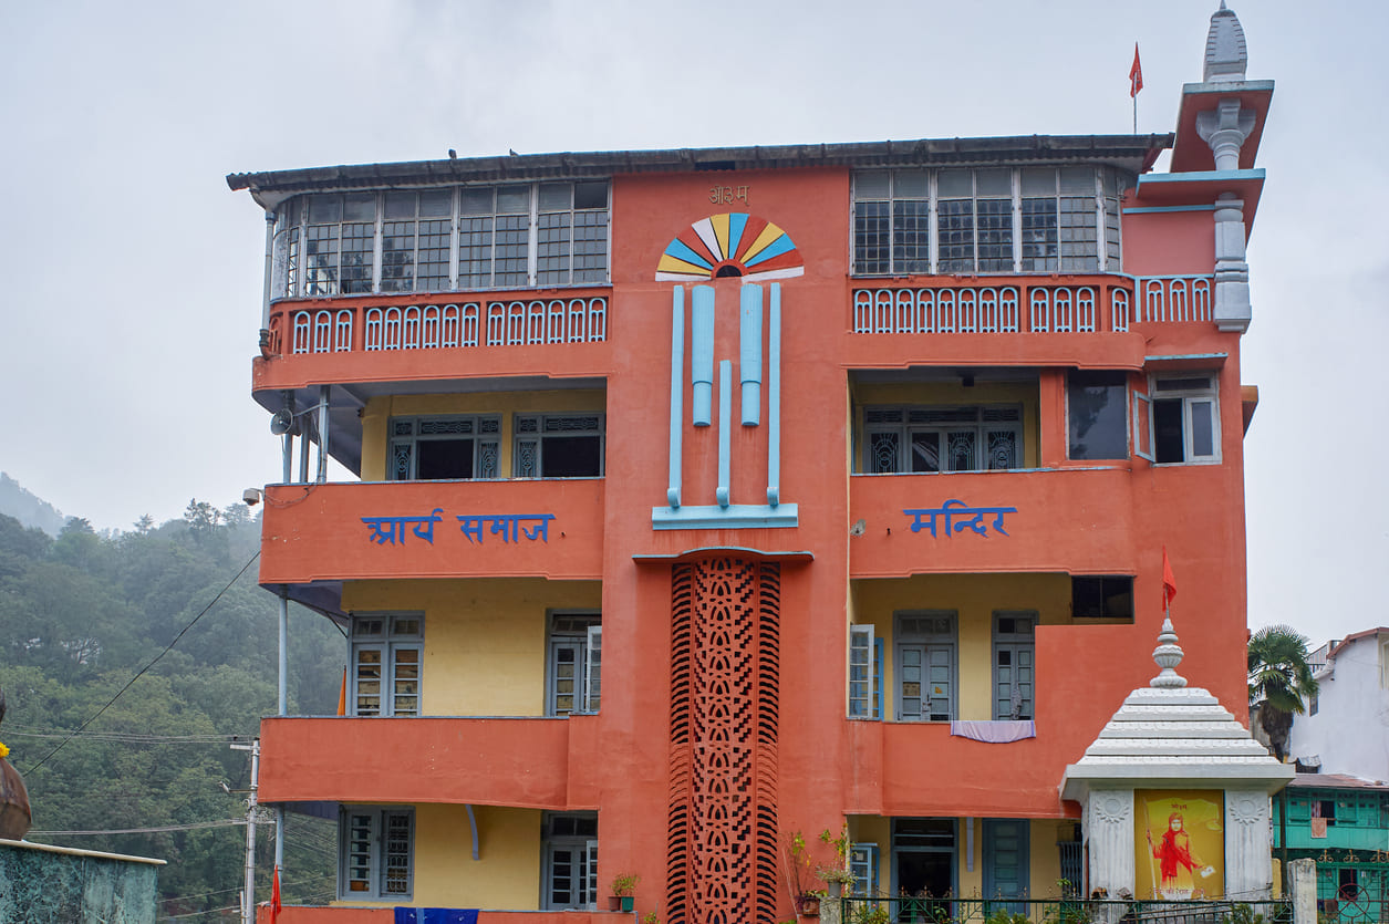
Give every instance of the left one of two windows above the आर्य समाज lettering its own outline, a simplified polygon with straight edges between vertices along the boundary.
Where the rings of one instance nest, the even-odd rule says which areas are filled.
[[[500,446],[500,417],[392,417],[386,478],[499,478]]]

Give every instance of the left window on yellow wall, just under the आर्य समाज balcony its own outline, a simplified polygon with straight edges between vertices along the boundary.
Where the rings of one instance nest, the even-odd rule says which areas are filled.
[[[424,617],[406,613],[354,616],[349,642],[349,714],[419,716]]]

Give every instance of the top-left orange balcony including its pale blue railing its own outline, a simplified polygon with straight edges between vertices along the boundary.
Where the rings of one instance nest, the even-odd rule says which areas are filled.
[[[607,288],[282,300],[253,390],[460,375],[596,375]]]

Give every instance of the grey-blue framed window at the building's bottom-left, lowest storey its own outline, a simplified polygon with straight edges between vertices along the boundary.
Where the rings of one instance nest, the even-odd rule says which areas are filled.
[[[338,898],[408,899],[414,824],[413,809],[344,807],[338,825]]]

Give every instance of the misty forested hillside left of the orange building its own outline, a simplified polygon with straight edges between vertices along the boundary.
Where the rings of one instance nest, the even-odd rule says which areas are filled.
[[[29,788],[29,839],[168,860],[160,920],[235,920],[246,828],[208,823],[244,818],[249,754],[229,745],[276,707],[276,600],[254,563],[232,582],[258,536],[246,507],[197,502],[113,538],[74,518],[54,539],[0,515],[0,741]],[[292,606],[290,713],[336,710],[343,657],[339,631]],[[139,832],[63,834],[126,830]],[[290,816],[286,903],[331,896],[333,838],[331,823]],[[258,828],[258,900],[274,841]]]

